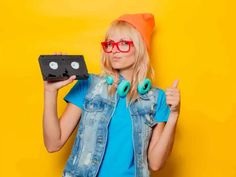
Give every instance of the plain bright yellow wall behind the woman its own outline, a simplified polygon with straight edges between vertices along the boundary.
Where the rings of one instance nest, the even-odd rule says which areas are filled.
[[[59,177],[63,149],[43,145],[40,54],[83,54],[99,73],[100,41],[123,13],[152,12],[155,85],[179,79],[181,115],[173,152],[160,177],[236,176],[235,2],[233,0],[0,1],[0,176]],[[63,97],[58,95],[58,114]]]

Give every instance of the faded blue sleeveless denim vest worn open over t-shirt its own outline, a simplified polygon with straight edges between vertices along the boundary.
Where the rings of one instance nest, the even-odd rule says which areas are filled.
[[[91,75],[91,83],[84,100],[83,113],[76,139],[65,165],[63,177],[96,177],[103,160],[108,125],[116,109],[119,95],[108,95],[105,78]],[[154,120],[158,89],[128,105],[132,119],[135,177],[150,177],[147,152]]]

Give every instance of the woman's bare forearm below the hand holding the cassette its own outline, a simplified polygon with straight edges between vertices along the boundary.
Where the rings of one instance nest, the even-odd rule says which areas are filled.
[[[49,152],[60,147],[60,123],[57,116],[57,91],[44,91],[43,137]]]

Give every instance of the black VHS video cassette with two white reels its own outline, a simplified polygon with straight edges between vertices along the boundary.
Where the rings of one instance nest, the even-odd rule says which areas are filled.
[[[72,75],[76,79],[88,79],[88,71],[83,55],[40,55],[39,65],[43,80],[66,80]]]

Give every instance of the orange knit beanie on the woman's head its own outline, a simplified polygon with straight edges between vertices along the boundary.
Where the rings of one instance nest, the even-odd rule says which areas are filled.
[[[154,16],[151,13],[124,14],[116,20],[125,21],[134,26],[143,37],[148,52],[150,52],[151,36],[155,27]]]

